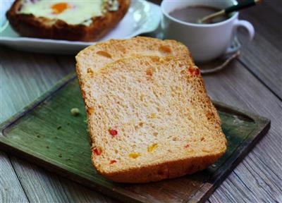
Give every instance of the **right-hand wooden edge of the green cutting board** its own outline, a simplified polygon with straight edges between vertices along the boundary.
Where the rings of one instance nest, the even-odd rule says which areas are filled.
[[[219,102],[219,104],[222,103]],[[236,109],[236,108],[231,106],[231,109]],[[250,137],[252,137],[253,139],[251,140],[251,142],[246,142],[244,140],[244,142],[242,142],[242,144],[240,144],[237,147],[237,149],[233,152],[233,154],[236,154],[237,156],[236,155],[231,156],[232,158],[228,159],[225,162],[225,164],[228,164],[229,167],[226,167],[223,170],[221,170],[222,167],[220,167],[216,171],[216,173],[214,173],[214,176],[211,177],[210,180],[207,181],[207,183],[204,183],[200,188],[200,190],[198,190],[195,193],[195,195],[193,195],[190,199],[186,200],[186,202],[188,203],[206,202],[207,199],[210,197],[210,195],[212,195],[214,190],[216,190],[216,188],[219,187],[219,185],[223,182],[223,180],[225,180],[229,176],[231,171],[233,171],[233,169],[236,166],[238,166],[238,164],[240,164],[240,161],[242,161],[245,158],[245,156],[247,156],[247,154],[255,147],[255,144],[257,144],[257,142],[259,142],[259,140],[261,140],[262,137],[264,137],[264,135],[271,127],[271,121],[269,119],[264,118],[262,116],[258,116],[255,113],[249,113],[249,112],[243,112],[243,113],[247,113],[247,115],[249,116],[257,117],[255,118],[255,121],[258,123],[258,128],[253,130],[252,133],[250,133],[250,135],[248,135],[245,140],[247,140],[247,138]],[[219,177],[219,178],[214,178],[214,177]]]

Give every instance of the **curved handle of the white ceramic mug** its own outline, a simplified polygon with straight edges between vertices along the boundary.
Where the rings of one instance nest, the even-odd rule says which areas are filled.
[[[254,28],[254,26],[252,26],[252,24],[250,22],[248,22],[247,20],[236,19],[233,26],[234,26],[233,29],[235,30],[235,32],[238,30],[239,27],[244,27],[245,30],[247,30],[248,42],[252,41],[252,39],[255,36],[255,28]],[[238,51],[240,48],[241,48],[240,43],[238,44],[238,46],[228,47],[226,49],[225,54],[233,54],[236,51]]]

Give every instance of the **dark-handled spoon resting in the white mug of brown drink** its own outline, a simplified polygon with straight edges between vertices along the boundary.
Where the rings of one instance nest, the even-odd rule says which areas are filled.
[[[212,20],[216,17],[225,16],[225,15],[227,16],[229,13],[232,13],[234,11],[239,11],[244,8],[248,8],[250,6],[255,6],[261,2],[262,0],[246,0],[238,3],[237,5],[230,6],[216,13],[212,13],[209,16],[205,16],[204,18],[197,20],[197,23],[212,23]]]

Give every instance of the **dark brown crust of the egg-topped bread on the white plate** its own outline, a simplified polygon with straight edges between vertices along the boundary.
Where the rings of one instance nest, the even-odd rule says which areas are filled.
[[[89,42],[104,37],[125,16],[130,0],[117,1],[119,3],[118,11],[107,11],[104,16],[93,17],[89,26],[69,25],[63,20],[56,20],[55,23],[49,25],[52,19],[17,13],[22,0],[16,0],[13,3],[6,17],[13,29],[24,37]]]

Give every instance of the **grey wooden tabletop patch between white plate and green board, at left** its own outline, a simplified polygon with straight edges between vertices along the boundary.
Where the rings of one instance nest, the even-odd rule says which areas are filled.
[[[0,47],[1,122],[49,90],[73,66],[59,66],[54,56]],[[5,99],[4,99],[5,98]]]

